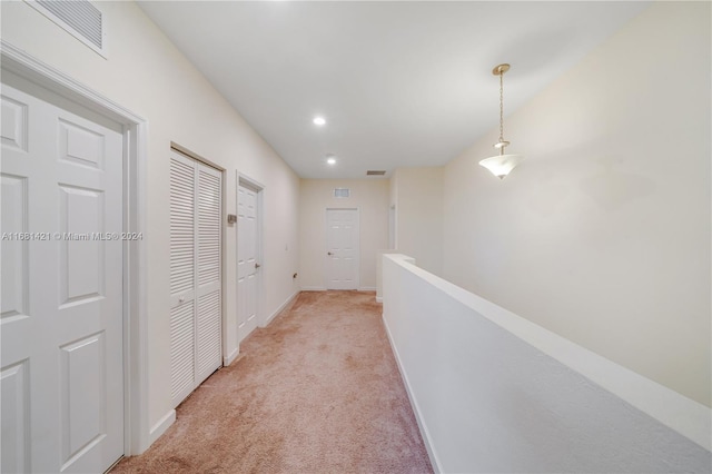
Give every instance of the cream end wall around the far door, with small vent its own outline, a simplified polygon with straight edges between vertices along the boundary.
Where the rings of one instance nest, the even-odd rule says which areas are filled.
[[[350,197],[335,198],[334,188]],[[299,284],[326,288],[326,209],[357,208],[360,224],[359,289],[376,289],[376,253],[388,245],[388,180],[301,179],[299,196]]]

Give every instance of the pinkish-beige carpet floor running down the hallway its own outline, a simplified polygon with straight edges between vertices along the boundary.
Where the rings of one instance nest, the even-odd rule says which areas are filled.
[[[301,293],[113,473],[431,473],[374,293]]]

